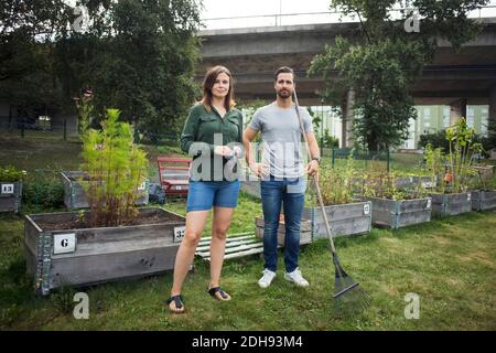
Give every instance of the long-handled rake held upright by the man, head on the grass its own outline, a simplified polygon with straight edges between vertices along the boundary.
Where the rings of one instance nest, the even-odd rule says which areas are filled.
[[[304,133],[303,122],[300,117],[300,105],[298,104],[296,90],[293,92],[293,95],[296,116],[300,122],[300,130],[303,135],[303,139],[306,146],[309,146],[306,135]],[[309,158],[311,159],[312,157],[310,156],[309,148],[306,148],[306,151],[309,153]],[[370,303],[370,297],[357,281],[355,281],[352,277],[349,277],[348,274],[346,274],[346,271],[341,266],[339,258],[337,257],[336,253],[336,247],[334,246],[333,236],[331,234],[331,226],[328,225],[327,214],[325,212],[321,188],[319,185],[319,179],[316,175],[314,175],[313,181],[315,183],[316,195],[322,211],[322,216],[324,218],[325,231],[327,233],[328,240],[331,242],[331,249],[335,268],[333,298],[336,312],[344,315],[359,312],[368,307],[368,304]]]

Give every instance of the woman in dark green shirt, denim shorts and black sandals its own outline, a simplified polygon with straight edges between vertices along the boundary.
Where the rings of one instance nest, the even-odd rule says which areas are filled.
[[[217,300],[230,300],[220,288],[226,234],[238,202],[239,180],[230,170],[240,157],[242,117],[234,108],[233,75],[224,66],[209,69],[203,83],[203,99],[193,106],[181,135],[181,148],[193,156],[187,194],[186,229],[177,250],[171,298],[172,312],[184,312],[181,289],[193,263],[208,213],[214,208],[211,243],[211,281],[208,293]],[[214,162],[214,160],[216,160]],[[219,162],[222,161],[222,163]],[[227,164],[227,165],[226,165]],[[196,167],[195,167],[196,165]],[[197,168],[200,167],[200,168]]]

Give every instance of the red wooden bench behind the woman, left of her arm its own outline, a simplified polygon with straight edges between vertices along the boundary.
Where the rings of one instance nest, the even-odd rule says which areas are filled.
[[[165,195],[187,195],[192,159],[158,157],[157,163],[160,185]]]

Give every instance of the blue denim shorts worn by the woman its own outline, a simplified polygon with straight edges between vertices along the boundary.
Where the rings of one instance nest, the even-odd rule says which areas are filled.
[[[193,181],[190,179],[186,212],[206,211],[212,207],[234,208],[238,204],[240,182]]]

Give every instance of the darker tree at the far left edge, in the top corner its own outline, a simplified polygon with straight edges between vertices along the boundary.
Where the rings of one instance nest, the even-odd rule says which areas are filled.
[[[51,41],[71,18],[62,0],[0,2],[0,99],[19,115],[56,107]]]

